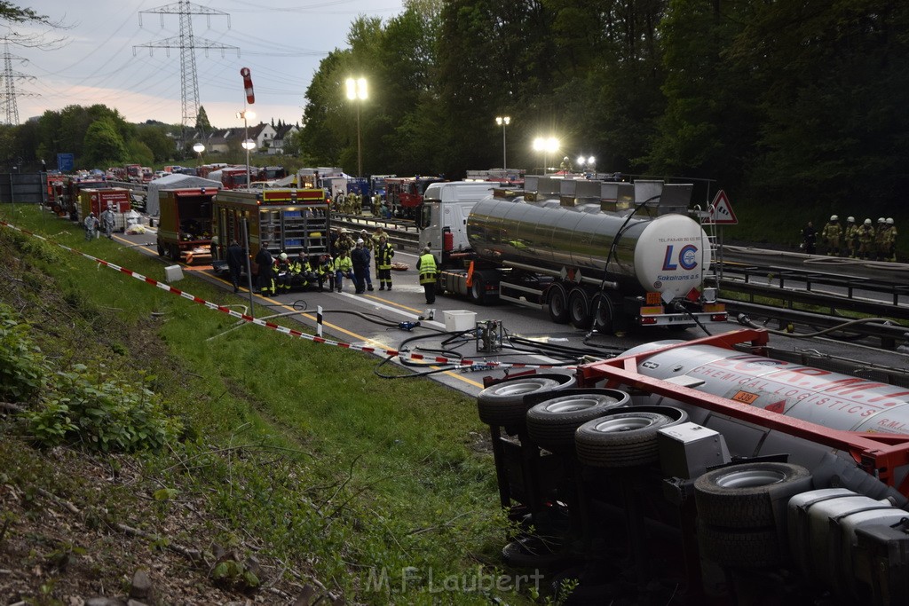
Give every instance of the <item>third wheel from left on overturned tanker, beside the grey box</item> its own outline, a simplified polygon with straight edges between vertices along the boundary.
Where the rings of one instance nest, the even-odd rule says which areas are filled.
[[[574,433],[580,462],[593,467],[620,469],[655,462],[656,432],[687,419],[671,406],[616,408],[586,422]]]

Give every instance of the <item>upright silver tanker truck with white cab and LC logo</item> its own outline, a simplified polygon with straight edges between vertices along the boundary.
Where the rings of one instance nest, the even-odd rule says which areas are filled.
[[[523,192],[432,184],[418,218],[438,291],[547,310],[600,332],[724,323],[705,288],[710,240],[687,215],[691,184],[527,176]]]

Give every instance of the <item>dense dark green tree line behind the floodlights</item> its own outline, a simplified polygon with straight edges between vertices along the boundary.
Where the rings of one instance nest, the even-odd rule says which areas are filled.
[[[301,152],[365,173],[539,171],[534,137],[597,170],[715,180],[784,208],[900,214],[909,165],[902,0],[413,0],[361,17],[306,95]]]

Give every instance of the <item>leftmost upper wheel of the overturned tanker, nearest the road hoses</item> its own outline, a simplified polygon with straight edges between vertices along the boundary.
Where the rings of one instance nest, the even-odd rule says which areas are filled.
[[[513,377],[487,387],[476,396],[480,421],[487,425],[524,427],[527,409],[524,396],[572,387],[576,379],[567,374],[533,374]]]

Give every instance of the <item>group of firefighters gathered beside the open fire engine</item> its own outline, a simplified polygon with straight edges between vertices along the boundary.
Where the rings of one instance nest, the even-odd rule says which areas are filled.
[[[325,283],[329,291],[340,293],[345,278],[351,280],[357,294],[372,291],[375,290],[370,273],[372,260],[375,260],[379,290],[392,290],[395,247],[388,242],[388,235],[381,227],[374,234],[363,230],[356,235],[358,237],[354,239],[347,230],[335,228],[329,253],[319,256],[310,256],[302,250],[295,257],[284,252],[272,257],[265,243],[255,258],[259,269],[259,293],[275,295],[305,288],[322,291]]]

